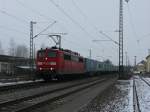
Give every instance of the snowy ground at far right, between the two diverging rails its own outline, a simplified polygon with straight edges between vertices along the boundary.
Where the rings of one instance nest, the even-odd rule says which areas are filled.
[[[150,112],[150,86],[139,77],[136,77],[135,83],[141,112]]]

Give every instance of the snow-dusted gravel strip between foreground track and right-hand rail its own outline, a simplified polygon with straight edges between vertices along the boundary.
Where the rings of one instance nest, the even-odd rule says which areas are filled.
[[[118,81],[79,112],[133,112],[133,81]]]

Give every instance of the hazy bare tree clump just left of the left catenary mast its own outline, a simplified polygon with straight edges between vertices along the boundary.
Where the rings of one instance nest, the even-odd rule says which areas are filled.
[[[26,45],[18,45],[16,47],[16,56],[17,57],[28,57],[28,48]]]

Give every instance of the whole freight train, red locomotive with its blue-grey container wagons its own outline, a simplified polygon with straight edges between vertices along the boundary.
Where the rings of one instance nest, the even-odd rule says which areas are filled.
[[[118,67],[111,63],[84,58],[79,53],[56,47],[37,52],[36,73],[44,80],[92,76],[101,73],[115,73]]]

